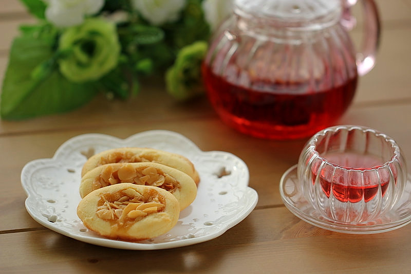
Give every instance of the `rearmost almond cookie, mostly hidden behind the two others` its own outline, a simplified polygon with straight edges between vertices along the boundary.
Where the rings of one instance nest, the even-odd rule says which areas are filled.
[[[84,163],[81,176],[96,167],[116,162],[158,162],[188,174],[196,184],[200,181],[198,172],[189,159],[179,154],[148,148],[118,148],[100,152]]]

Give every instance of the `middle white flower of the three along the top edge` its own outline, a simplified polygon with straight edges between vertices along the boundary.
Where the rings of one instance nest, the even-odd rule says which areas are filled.
[[[153,25],[176,21],[186,0],[132,0],[133,7]]]

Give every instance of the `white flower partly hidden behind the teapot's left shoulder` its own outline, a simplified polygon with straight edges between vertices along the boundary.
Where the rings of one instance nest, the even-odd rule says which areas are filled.
[[[204,0],[201,3],[204,17],[214,31],[233,11],[233,0]]]

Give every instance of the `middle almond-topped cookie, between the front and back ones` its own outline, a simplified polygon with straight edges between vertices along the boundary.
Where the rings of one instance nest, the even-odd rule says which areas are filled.
[[[180,203],[180,210],[193,203],[197,186],[187,174],[155,162],[108,163],[87,172],[80,183],[83,198],[99,188],[131,182],[136,185],[154,186],[172,193]]]

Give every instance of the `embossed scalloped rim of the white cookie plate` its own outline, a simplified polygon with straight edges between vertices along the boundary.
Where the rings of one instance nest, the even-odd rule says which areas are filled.
[[[225,183],[226,187],[232,187],[232,189],[230,190],[233,190],[233,192],[235,192],[237,195],[240,195],[241,197],[244,197],[244,199],[246,200],[246,204],[242,205],[241,207],[242,210],[238,211],[232,219],[229,219],[225,221],[224,223],[222,223],[221,227],[218,227],[215,230],[210,230],[209,233],[205,233],[204,235],[188,237],[185,239],[182,238],[182,239],[174,240],[170,242],[138,243],[138,242],[110,240],[110,239],[106,239],[101,236],[98,236],[97,234],[95,234],[94,236],[90,236],[89,234],[92,232],[88,232],[88,234],[84,234],[84,235],[82,233],[70,232],[70,230],[66,229],[65,227],[55,225],[55,222],[51,222],[50,220],[48,220],[48,217],[44,213],[41,213],[39,209],[33,208],[30,205],[30,203],[33,203],[36,201],[36,198],[40,199],[38,196],[40,196],[41,194],[36,192],[36,190],[34,189],[34,187],[38,186],[40,183],[37,182],[37,185],[36,185],[36,182],[33,182],[32,178],[29,177],[29,175],[30,174],[32,175],[33,172],[35,172],[36,170],[41,170],[40,168],[38,168],[39,166],[41,167],[50,166],[51,170],[53,170],[52,168],[53,165],[59,165],[63,169],[70,168],[70,166],[67,166],[68,163],[70,162],[69,160],[67,160],[67,158],[68,158],[68,154],[70,154],[71,147],[76,147],[76,149],[78,149],[79,147],[81,148],[82,146],[83,147],[86,146],[85,143],[90,142],[90,141],[96,142],[96,143],[99,141],[107,142],[107,143],[110,143],[111,148],[127,147],[127,146],[131,146],[130,144],[137,144],[137,142],[141,140],[144,143],[144,142],[150,142],[150,141],[155,142],[156,139],[161,140],[162,144],[165,146],[173,145],[173,142],[175,143],[178,142],[180,147],[183,149],[179,147],[176,150],[181,150],[180,154],[182,154],[185,157],[188,157],[193,162],[206,161],[206,160],[208,161],[210,159],[211,159],[210,162],[212,162],[213,160],[221,161],[221,159],[224,159],[227,161],[228,165],[233,165],[233,167],[235,167],[234,168],[235,170],[233,171],[234,172],[233,176],[236,175],[235,172],[242,172],[241,174],[242,177],[238,181],[235,182],[235,185],[232,185],[230,183],[230,185],[228,186]],[[113,146],[111,146],[111,144],[113,144]],[[138,145],[133,145],[133,146],[137,147]],[[142,145],[141,147],[147,147],[147,146]],[[72,153],[72,150],[71,150],[71,153]],[[84,161],[85,159],[86,158],[84,157]],[[207,162],[206,165],[211,165],[211,163]],[[207,179],[210,177],[210,174],[204,174],[203,173],[204,171],[201,168],[197,169],[197,171],[199,172],[200,177],[206,178],[204,181],[203,179],[201,179],[199,183],[199,192],[200,192],[200,189],[205,189],[207,187],[207,184],[210,184],[210,180]],[[73,239],[76,239],[82,242],[105,246],[105,247],[120,248],[120,249],[133,249],[133,250],[166,249],[166,248],[188,246],[188,245],[193,245],[193,244],[212,240],[214,238],[217,238],[221,234],[225,233],[227,230],[237,225],[242,220],[244,220],[244,218],[246,218],[252,212],[252,210],[255,208],[258,202],[257,192],[248,186],[249,171],[244,161],[242,161],[237,156],[231,153],[228,153],[228,152],[201,151],[197,147],[197,145],[194,142],[192,142],[190,139],[182,136],[179,133],[172,132],[172,131],[165,131],[165,130],[152,130],[152,131],[140,132],[140,133],[131,135],[125,139],[120,139],[114,136],[110,136],[106,134],[99,134],[99,133],[89,133],[89,134],[82,134],[82,135],[74,136],[66,140],[62,145],[60,145],[60,147],[55,151],[52,158],[36,159],[36,160],[32,160],[28,162],[22,169],[21,182],[22,182],[23,189],[27,195],[27,198],[25,201],[26,210],[36,222],[38,222],[39,224],[55,232],[58,232],[60,234],[63,234],[65,236],[68,236],[70,238],[73,238]],[[64,181],[62,182],[62,184],[63,183],[66,184]],[[212,183],[214,184],[214,181],[212,181]],[[209,187],[208,189],[210,190],[211,187],[210,186],[208,187]],[[76,191],[78,193],[78,188],[74,190],[74,192]],[[210,193],[208,194],[210,195]],[[202,194],[200,193],[200,195]],[[197,194],[197,196],[199,195]],[[228,196],[228,195],[220,195],[220,196]],[[233,196],[235,195],[233,194]],[[78,198],[80,199],[79,194],[78,194]],[[194,203],[195,202],[196,200],[194,201]],[[68,201],[68,203],[70,203],[70,201]],[[74,203],[74,202],[71,202],[71,203]],[[188,209],[184,209],[181,212],[181,214],[185,212],[186,210]],[[180,217],[181,217],[181,214],[180,214]],[[78,219],[78,221],[81,224],[80,219]],[[176,226],[178,226],[178,224]]]

